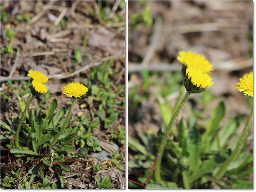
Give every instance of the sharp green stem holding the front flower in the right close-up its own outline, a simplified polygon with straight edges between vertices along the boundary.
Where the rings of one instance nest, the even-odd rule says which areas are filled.
[[[184,96],[184,98],[183,98],[182,102],[180,103],[179,107],[177,108],[177,110],[173,114],[172,120],[170,121],[170,123],[169,123],[169,125],[168,125],[168,127],[165,131],[164,137],[161,140],[161,143],[160,143],[160,146],[159,146],[159,149],[158,149],[158,152],[157,152],[157,154],[160,154],[160,157],[158,158],[158,161],[156,162],[156,167],[155,167],[155,170],[154,170],[154,179],[157,183],[161,183],[161,175],[160,175],[161,161],[162,161],[162,158],[163,158],[164,149],[166,147],[169,135],[172,131],[172,127],[173,127],[178,115],[180,114],[180,111],[182,110],[184,104],[186,103],[186,101],[188,100],[188,97],[190,95],[191,95],[191,93],[187,92],[186,95]]]

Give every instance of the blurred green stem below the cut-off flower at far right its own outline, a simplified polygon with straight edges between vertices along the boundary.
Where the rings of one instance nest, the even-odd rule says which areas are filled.
[[[242,135],[237,143],[236,148],[234,149],[233,153],[230,155],[230,157],[221,165],[221,168],[219,169],[218,173],[215,175],[216,179],[221,179],[224,173],[226,172],[228,166],[230,163],[237,158],[238,154],[241,152],[242,145],[245,142],[247,138],[247,134],[251,128],[251,123],[252,123],[252,118],[253,118],[253,110],[251,111],[250,115],[248,116],[247,122],[245,124],[244,130],[242,132]]]

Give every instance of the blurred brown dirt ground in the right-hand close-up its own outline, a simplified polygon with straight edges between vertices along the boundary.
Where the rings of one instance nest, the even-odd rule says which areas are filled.
[[[143,92],[142,67],[150,71],[178,71],[181,69],[176,59],[178,52],[193,51],[205,55],[213,64],[211,77],[214,84],[211,89],[215,99],[209,103],[209,111],[219,101],[224,101],[226,113],[223,123],[238,114],[249,115],[248,98],[235,87],[239,78],[252,71],[253,66],[252,1],[129,1],[128,5],[129,88],[135,85],[138,93]],[[152,25],[145,27],[139,24],[132,28],[133,14],[141,14],[145,8],[151,11]],[[140,114],[135,123],[130,123],[129,119],[130,137],[138,138],[136,132],[146,133],[148,128],[156,134],[163,122],[153,94],[159,88],[150,86],[149,89],[152,94],[148,100],[129,109],[129,117]],[[171,106],[177,95],[175,92],[168,97]],[[190,101],[196,97],[197,94],[192,94]],[[131,102],[129,100],[129,106]],[[182,113],[180,116],[186,116],[186,106]],[[244,124],[238,134],[243,127]],[[252,151],[253,146],[252,129],[250,133],[248,151]],[[129,154],[130,158],[133,158],[132,154]]]

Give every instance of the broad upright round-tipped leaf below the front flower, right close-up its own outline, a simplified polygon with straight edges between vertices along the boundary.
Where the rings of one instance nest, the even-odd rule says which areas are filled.
[[[190,169],[195,170],[200,166],[200,153],[202,151],[202,142],[198,130],[193,127],[187,137],[187,151],[189,153]]]

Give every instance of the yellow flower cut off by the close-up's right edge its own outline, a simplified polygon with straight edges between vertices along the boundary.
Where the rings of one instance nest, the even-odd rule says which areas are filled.
[[[248,96],[252,97],[252,90],[253,90],[253,78],[252,78],[252,72],[250,73],[245,73],[242,78],[239,79],[239,82],[236,84],[239,87],[236,87],[238,91],[243,91],[245,94]]]

